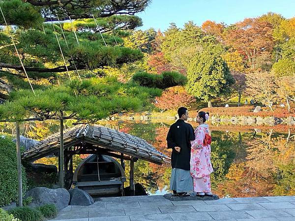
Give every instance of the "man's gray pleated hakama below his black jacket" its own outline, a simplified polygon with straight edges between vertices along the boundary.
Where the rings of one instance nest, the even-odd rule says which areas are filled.
[[[190,170],[173,168],[171,172],[170,190],[177,193],[193,192],[193,178]]]

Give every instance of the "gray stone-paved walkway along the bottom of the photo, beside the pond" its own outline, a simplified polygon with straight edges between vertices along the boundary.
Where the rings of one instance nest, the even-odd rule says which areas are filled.
[[[163,196],[100,198],[91,206],[68,206],[59,221],[260,220],[295,221],[295,196],[170,201]]]

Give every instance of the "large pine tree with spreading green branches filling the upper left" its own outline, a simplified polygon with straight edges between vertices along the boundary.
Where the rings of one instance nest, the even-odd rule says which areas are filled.
[[[76,123],[85,123],[148,106],[150,99],[161,94],[161,89],[151,88],[158,84],[151,81],[140,86],[143,83],[138,78],[120,83],[115,78],[102,77],[105,68],[143,58],[140,50],[124,47],[123,38],[142,25],[141,19],[133,15],[148,2],[1,1],[8,26],[0,32],[0,87],[1,97],[9,101],[0,107],[0,118],[9,121],[76,119]],[[76,20],[43,23],[68,19],[67,16]],[[3,19],[0,23],[6,25]],[[145,33],[148,38],[156,35],[153,30]],[[155,79],[154,75],[148,77]],[[164,74],[163,79],[165,85],[161,88],[186,81],[179,73]],[[32,88],[29,81],[33,83]]]

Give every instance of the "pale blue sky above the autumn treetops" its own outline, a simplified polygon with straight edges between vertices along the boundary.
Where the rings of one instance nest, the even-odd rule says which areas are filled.
[[[160,28],[163,31],[171,22],[179,28],[190,20],[198,26],[206,20],[230,25],[269,11],[292,18],[295,0],[152,0],[148,8],[137,15],[144,24],[140,29]]]

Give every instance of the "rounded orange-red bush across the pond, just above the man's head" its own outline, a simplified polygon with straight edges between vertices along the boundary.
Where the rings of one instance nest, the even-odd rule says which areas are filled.
[[[181,86],[168,88],[160,97],[156,97],[155,106],[161,111],[190,106],[195,98],[189,95]]]

